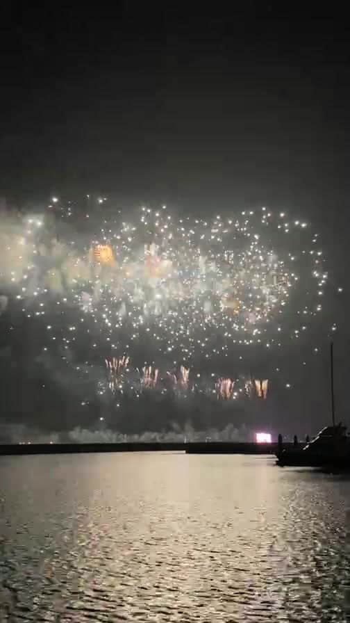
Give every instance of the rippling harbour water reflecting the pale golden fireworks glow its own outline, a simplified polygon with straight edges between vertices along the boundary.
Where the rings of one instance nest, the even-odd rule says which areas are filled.
[[[349,505],[266,457],[3,457],[0,621],[345,622]]]

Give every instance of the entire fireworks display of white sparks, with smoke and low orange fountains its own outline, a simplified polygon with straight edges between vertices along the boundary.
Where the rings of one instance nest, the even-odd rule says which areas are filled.
[[[72,209],[62,213],[67,220]],[[135,366],[140,391],[163,378],[158,357],[167,382],[185,394],[194,387],[190,369],[201,362],[234,357],[236,348],[280,348],[322,311],[328,275],[318,236],[284,212],[263,207],[206,220],[144,207],[136,218],[103,219],[80,247],[74,238],[45,239],[45,218],[25,218],[20,233],[12,226],[3,232],[2,280],[19,287],[28,317],[59,308],[66,321],[59,330],[48,324],[47,332],[63,350],[74,350],[78,333],[91,338],[91,348],[106,349],[114,394],[135,349],[151,362]],[[294,293],[301,306],[292,305],[291,319]],[[78,323],[69,321],[72,308]],[[211,391],[223,400],[238,391],[266,398],[267,385],[244,378],[238,390],[235,378],[217,375]]]

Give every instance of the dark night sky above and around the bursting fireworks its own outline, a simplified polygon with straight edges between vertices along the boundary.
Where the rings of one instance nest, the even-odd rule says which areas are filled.
[[[268,205],[313,221],[328,257],[328,300],[339,326],[336,401],[347,421],[344,16],[274,2],[246,2],[231,13],[173,2],[115,3],[109,11],[8,5],[0,10],[0,46],[0,196],[10,204],[102,193],[118,205],[166,203],[193,216]],[[331,293],[337,286],[341,300]],[[16,339],[16,357],[30,356],[31,346],[22,352]],[[306,401],[313,429],[319,410],[324,423],[327,357],[315,364],[312,395],[305,380],[303,396],[294,396],[290,432],[294,423],[301,430]],[[2,400],[12,383],[7,372]],[[29,401],[24,423],[50,428],[38,414],[46,405],[37,403]],[[22,407],[12,408],[6,422],[18,423]],[[55,417],[58,430],[65,416]]]

